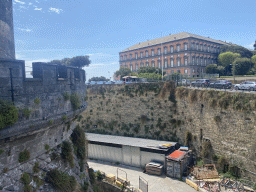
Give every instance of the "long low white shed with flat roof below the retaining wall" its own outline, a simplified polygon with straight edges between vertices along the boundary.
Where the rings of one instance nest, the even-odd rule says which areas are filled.
[[[134,167],[145,167],[151,161],[166,167],[166,156],[178,148],[177,142],[134,137],[86,133],[88,158]],[[168,146],[168,147],[166,147]]]

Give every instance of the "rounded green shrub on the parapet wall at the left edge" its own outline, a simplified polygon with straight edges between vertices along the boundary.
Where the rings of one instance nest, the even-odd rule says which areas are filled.
[[[16,123],[18,115],[18,110],[12,103],[0,99],[0,129]]]

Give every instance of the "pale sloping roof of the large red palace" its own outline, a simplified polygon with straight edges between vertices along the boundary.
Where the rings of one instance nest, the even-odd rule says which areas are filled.
[[[133,46],[121,51],[121,52],[131,51],[131,50],[134,50],[134,49],[140,49],[140,48],[144,48],[144,47],[148,47],[148,46],[152,46],[152,45],[158,45],[158,44],[166,43],[166,42],[170,42],[170,41],[176,41],[176,40],[179,40],[179,39],[185,39],[185,38],[188,38],[188,37],[194,37],[194,38],[197,38],[197,39],[210,41],[210,42],[213,42],[213,43],[219,43],[219,44],[222,44],[222,45],[228,45],[229,44],[229,43],[226,43],[226,42],[223,42],[223,41],[220,41],[220,40],[211,39],[209,37],[203,37],[203,36],[195,35],[195,34],[192,34],[192,33],[181,32],[181,33],[177,33],[177,34],[173,34],[173,35],[168,35],[166,37],[161,37],[161,38],[158,38],[158,39],[153,39],[153,40],[145,41],[145,42],[142,42],[142,43],[138,43],[138,44],[133,45]]]

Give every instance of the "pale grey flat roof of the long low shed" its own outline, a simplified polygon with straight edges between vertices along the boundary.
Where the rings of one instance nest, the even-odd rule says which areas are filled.
[[[135,137],[101,135],[101,134],[95,134],[95,133],[85,133],[85,134],[87,136],[88,141],[113,143],[113,144],[143,147],[143,148],[149,148],[149,149],[164,150],[160,148],[160,146],[162,146],[163,144],[170,144],[172,146],[175,146],[177,144],[177,142],[158,141],[158,140],[142,139],[142,138],[135,138]]]

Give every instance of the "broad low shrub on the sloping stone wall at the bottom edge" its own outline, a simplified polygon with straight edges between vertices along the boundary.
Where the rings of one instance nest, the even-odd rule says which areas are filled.
[[[55,189],[60,191],[73,192],[76,188],[75,177],[69,176],[58,169],[52,169],[47,173],[46,182],[52,184]]]

